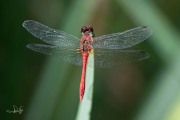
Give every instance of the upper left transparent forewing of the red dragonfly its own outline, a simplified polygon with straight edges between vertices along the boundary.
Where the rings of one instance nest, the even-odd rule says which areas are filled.
[[[79,47],[79,39],[63,31],[52,29],[33,20],[26,20],[22,25],[32,35],[48,44],[67,48]]]

